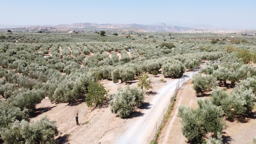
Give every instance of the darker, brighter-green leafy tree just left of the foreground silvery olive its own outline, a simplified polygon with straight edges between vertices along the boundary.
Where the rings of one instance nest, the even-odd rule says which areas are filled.
[[[88,107],[101,105],[107,97],[107,91],[104,89],[103,84],[93,82],[88,86],[88,93],[85,102]]]

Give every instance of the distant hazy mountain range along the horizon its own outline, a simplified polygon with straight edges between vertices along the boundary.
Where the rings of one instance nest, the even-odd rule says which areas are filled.
[[[0,28],[13,30],[106,30],[106,31],[118,31],[118,32],[184,32],[184,33],[255,33],[256,30],[227,30],[220,28],[191,28],[191,27],[179,27],[166,25],[164,23],[158,25],[141,25],[141,24],[96,24],[96,23],[73,23],[73,24],[60,24],[60,25],[41,25],[41,26],[18,26],[18,25],[1,25]]]

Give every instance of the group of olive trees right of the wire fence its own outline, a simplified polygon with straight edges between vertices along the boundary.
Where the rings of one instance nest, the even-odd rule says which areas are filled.
[[[232,56],[232,55],[229,55]],[[183,135],[192,142],[203,142],[203,137],[208,132],[214,133],[218,139],[210,139],[211,143],[220,142],[221,132],[225,128],[223,117],[243,121],[252,113],[255,97],[255,68],[245,65],[238,59],[222,58],[222,63],[218,68],[217,63],[207,62],[201,69],[201,73],[196,74],[193,79],[193,89],[200,94],[211,92],[211,98],[204,101],[199,100],[199,108],[179,108],[179,116],[182,122]],[[217,77],[217,78],[215,78]],[[228,94],[224,90],[216,88],[217,79],[226,84],[226,80],[235,82],[238,86]],[[206,111],[204,111],[204,110]],[[213,110],[214,109],[214,110]],[[209,111],[208,111],[209,110]]]

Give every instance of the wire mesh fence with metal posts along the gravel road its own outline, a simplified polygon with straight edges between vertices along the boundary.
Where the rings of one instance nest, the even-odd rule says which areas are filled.
[[[174,100],[175,100],[176,94],[178,93],[178,91],[179,91],[180,89],[184,89],[184,88],[186,87],[186,85],[187,85],[186,82],[189,80],[189,78],[194,77],[194,75],[196,74],[196,71],[198,71],[199,69],[200,69],[200,67],[197,67],[196,69],[193,69],[191,72],[188,72],[187,75],[182,75],[182,76],[178,79],[178,81],[177,81],[177,83],[176,83],[175,90],[174,90],[174,94],[173,94],[173,96],[170,98],[170,104],[169,104],[169,106],[168,106],[167,109],[164,108],[164,110],[163,110],[163,120],[161,120],[161,122],[160,122],[159,124],[157,124],[157,122],[156,122],[156,134],[154,135],[153,140],[156,140],[156,139],[157,139],[157,137],[158,137],[157,135],[158,135],[159,132],[161,131],[161,125],[164,124],[164,119],[165,119],[165,117],[167,117],[166,114],[168,114],[168,112],[169,112],[168,115],[170,115],[170,110],[172,109],[172,106],[173,106],[173,104],[174,104]],[[167,112],[167,113],[165,113],[165,112]],[[157,128],[158,128],[158,129],[157,129]]]

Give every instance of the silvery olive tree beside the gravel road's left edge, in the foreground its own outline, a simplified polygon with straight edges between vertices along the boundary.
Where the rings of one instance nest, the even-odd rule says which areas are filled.
[[[129,116],[135,107],[140,107],[144,99],[144,92],[138,87],[119,87],[116,93],[109,95],[111,112],[124,118]]]

